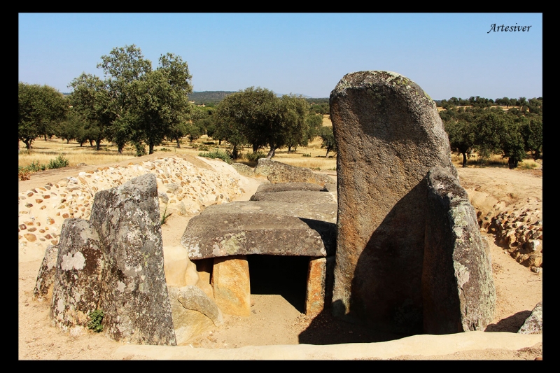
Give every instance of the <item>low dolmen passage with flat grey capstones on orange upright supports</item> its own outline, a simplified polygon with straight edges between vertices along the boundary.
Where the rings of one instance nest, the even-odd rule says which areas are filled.
[[[332,284],[336,213],[324,185],[266,183],[249,201],[208,206],[190,219],[181,245],[207,273],[218,307],[237,316],[251,313],[247,255],[309,257],[305,313],[318,314]]]

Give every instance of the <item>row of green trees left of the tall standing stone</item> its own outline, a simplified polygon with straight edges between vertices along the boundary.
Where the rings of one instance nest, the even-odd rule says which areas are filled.
[[[321,129],[324,102],[314,108],[302,97],[283,95],[260,87],[225,95],[218,104],[195,106],[187,62],[180,56],[161,55],[156,69],[135,45],[113,48],[101,57],[97,68],[104,77],[82,73],[69,84],[68,95],[47,85],[19,83],[19,139],[27,149],[38,137],[52,136],[89,141],[97,150],[102,141],[111,141],[122,153],[130,143],[137,155],[153,153],[162,141],[188,137],[192,143],[203,134],[227,141],[233,158],[251,146],[274,151],[287,146],[288,152],[306,146],[316,136],[328,136]],[[331,129],[332,132],[332,129]],[[330,146],[330,150],[334,150]]]

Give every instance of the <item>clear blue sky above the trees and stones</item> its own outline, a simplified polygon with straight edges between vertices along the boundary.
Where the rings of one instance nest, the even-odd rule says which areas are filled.
[[[172,52],[195,91],[265,87],[329,97],[346,74],[388,70],[433,99],[542,97],[542,13],[19,13],[18,80],[60,92],[102,55]],[[531,26],[491,31],[491,25]]]

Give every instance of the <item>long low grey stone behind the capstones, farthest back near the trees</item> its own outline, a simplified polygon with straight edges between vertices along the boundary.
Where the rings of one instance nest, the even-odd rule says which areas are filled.
[[[255,176],[267,176],[273,183],[312,183],[324,186],[327,183],[335,183],[328,175],[317,174],[311,169],[290,166],[281,162],[260,158],[254,170]]]

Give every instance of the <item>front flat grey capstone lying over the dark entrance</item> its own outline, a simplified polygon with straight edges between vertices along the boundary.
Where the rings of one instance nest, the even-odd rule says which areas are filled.
[[[325,193],[326,194],[326,193]],[[181,245],[191,260],[228,255],[334,255],[337,204],[241,201],[208,206]]]

